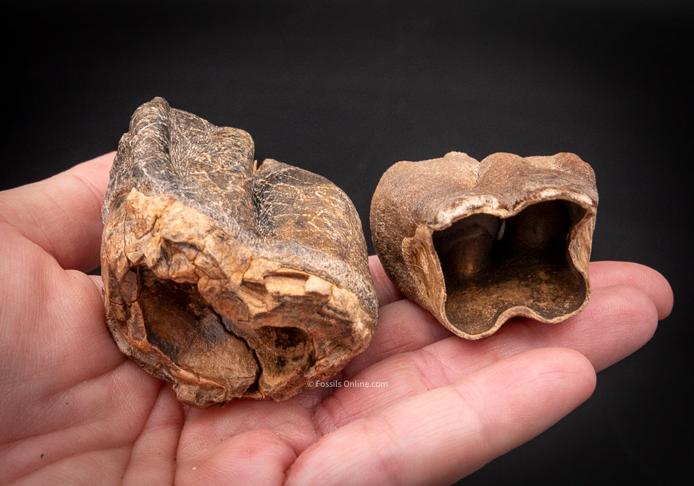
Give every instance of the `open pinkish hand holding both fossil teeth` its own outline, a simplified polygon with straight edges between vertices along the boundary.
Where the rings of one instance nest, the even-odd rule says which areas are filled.
[[[336,381],[382,386],[187,408],[118,351],[84,273],[112,159],[0,193],[0,483],[450,484],[582,403],[672,309],[659,273],[597,262],[574,318],[465,341],[371,257],[378,329]]]

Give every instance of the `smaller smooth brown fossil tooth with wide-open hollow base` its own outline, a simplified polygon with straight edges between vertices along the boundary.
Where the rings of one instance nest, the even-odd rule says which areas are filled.
[[[559,322],[584,308],[597,205],[577,155],[452,152],[384,173],[371,234],[407,297],[477,339],[515,316]]]

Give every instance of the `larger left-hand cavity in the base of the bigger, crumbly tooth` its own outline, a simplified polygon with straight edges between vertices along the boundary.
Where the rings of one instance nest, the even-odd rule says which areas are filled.
[[[257,375],[251,349],[226,331],[195,284],[162,280],[143,268],[131,271],[137,274],[137,302],[150,345],[179,367],[211,379]]]

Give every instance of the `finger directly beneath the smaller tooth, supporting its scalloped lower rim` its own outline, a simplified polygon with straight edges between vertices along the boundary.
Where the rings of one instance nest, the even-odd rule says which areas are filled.
[[[345,376],[350,383],[316,408],[316,422],[340,426],[367,417],[393,401],[448,385],[536,348],[575,349],[595,370],[602,370],[643,346],[656,326],[657,313],[645,294],[629,287],[599,288],[586,310],[565,322],[515,320],[489,338],[468,341],[453,336]]]

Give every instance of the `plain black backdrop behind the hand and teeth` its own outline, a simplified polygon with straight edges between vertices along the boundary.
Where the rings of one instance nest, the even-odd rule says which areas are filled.
[[[656,268],[675,310],[575,413],[463,483],[688,473],[690,2],[95,3],[4,9],[0,189],[115,150],[154,96],[247,130],[258,160],[328,177],[367,241],[371,194],[394,162],[577,153],[600,191],[593,259]]]

